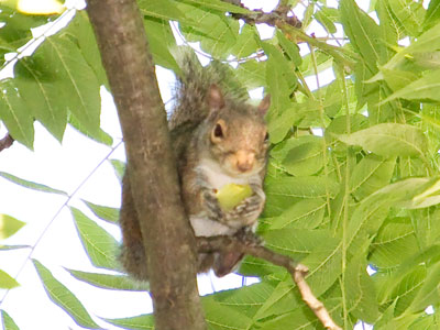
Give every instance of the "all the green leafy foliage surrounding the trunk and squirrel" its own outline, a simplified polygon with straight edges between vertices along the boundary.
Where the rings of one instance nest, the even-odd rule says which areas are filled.
[[[266,246],[310,268],[314,293],[345,329],[359,320],[374,329],[435,329],[440,307],[440,1],[431,0],[427,9],[410,0],[372,3],[366,13],[353,0],[340,0],[338,8],[309,1],[302,29],[279,24],[272,38],[262,40],[255,26],[241,26],[231,14],[246,15],[246,9],[219,0],[139,1],[157,65],[177,70],[169,24],[177,21],[186,41],[237,65],[244,87],[264,87],[272,95],[267,202],[258,228]],[[32,42],[29,29],[44,19],[2,10],[0,52],[18,52]],[[327,37],[310,36],[317,22]],[[339,41],[333,34],[341,26],[346,38]],[[85,12],[45,37],[32,56],[15,58],[14,77],[0,81],[0,120],[16,141],[32,148],[37,120],[59,141],[69,123],[111,144],[99,125],[99,89],[107,81]],[[319,84],[323,72],[334,74],[327,85]],[[308,86],[314,80],[316,89]],[[114,167],[120,173],[121,164]],[[118,210],[85,202],[116,224]],[[119,271],[114,239],[78,209],[72,212],[92,264]],[[18,221],[2,219],[9,226]],[[75,295],[48,268],[34,264],[51,299],[78,324],[95,329]],[[120,275],[68,272],[99,287],[140,289]],[[209,329],[322,328],[284,270],[248,257],[240,272],[262,282],[205,297]],[[435,312],[428,316],[429,306]],[[2,320],[7,329],[18,329],[4,311]],[[106,320],[123,329],[153,327],[151,316]]]

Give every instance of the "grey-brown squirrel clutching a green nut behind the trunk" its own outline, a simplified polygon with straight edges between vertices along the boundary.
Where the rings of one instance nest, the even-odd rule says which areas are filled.
[[[264,116],[270,96],[257,107],[249,105],[245,90],[232,80],[232,75],[228,76],[229,66],[213,62],[202,67],[194,53],[184,53],[179,66],[176,106],[168,129],[182,199],[195,235],[254,235],[265,202],[263,179],[270,142]],[[125,173],[122,182],[120,260],[127,273],[147,280],[129,175]],[[228,184],[250,185],[253,195],[226,211],[216,191]],[[198,273],[212,268],[217,276],[224,276],[242,257],[237,252],[199,254]]]

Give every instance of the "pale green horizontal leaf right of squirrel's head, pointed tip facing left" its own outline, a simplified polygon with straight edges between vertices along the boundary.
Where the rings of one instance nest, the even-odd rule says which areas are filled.
[[[339,140],[349,145],[361,145],[377,155],[424,156],[427,140],[424,133],[408,124],[381,123],[352,134],[340,135]]]

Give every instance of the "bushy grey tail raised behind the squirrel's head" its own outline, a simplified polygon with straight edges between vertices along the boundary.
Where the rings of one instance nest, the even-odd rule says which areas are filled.
[[[170,129],[185,122],[199,123],[208,116],[205,97],[212,84],[220,86],[226,98],[248,99],[248,91],[240,86],[230,65],[212,61],[204,67],[190,47],[179,47],[175,57],[180,73],[175,89],[176,106],[169,119]]]

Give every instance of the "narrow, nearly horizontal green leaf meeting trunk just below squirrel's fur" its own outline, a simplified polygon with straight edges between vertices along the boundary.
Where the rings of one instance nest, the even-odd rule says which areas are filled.
[[[131,292],[145,292],[150,289],[150,285],[147,283],[135,283],[127,275],[99,274],[75,270],[66,271],[69,272],[70,275],[76,279],[100,288]]]

